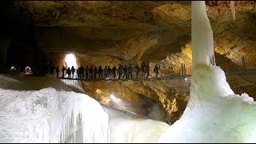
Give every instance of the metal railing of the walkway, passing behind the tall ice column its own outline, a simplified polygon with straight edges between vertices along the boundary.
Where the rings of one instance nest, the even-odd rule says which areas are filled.
[[[255,58],[230,58],[230,60],[219,65],[225,73],[228,74],[250,74],[256,73],[256,57]],[[98,74],[97,74],[98,75]],[[170,65],[168,67],[162,67],[159,70],[158,78],[156,78],[156,74],[153,72],[152,68],[150,68],[149,75],[142,74],[142,71],[139,72],[138,78],[136,78],[136,73],[133,72],[133,78],[123,78],[118,79],[119,75],[116,73],[116,78],[103,78],[99,79],[98,76],[96,79],[90,79],[90,81],[98,81],[98,80],[154,80],[154,79],[166,79],[166,78],[186,78],[192,75],[192,65],[190,63],[182,63],[181,65]],[[89,76],[90,78],[90,76]],[[94,77],[93,77],[94,78]],[[68,78],[64,78],[68,79]],[[78,78],[70,78],[77,79]],[[82,79],[87,80],[87,79]]]

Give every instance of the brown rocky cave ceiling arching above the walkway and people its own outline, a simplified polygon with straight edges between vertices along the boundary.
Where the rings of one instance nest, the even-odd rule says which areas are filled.
[[[179,53],[190,43],[190,5],[190,1],[3,1],[2,29],[9,26],[16,43],[32,39],[32,46],[46,52],[150,62]],[[255,54],[256,2],[235,2],[235,22],[230,2],[206,5],[215,52],[225,57]]]

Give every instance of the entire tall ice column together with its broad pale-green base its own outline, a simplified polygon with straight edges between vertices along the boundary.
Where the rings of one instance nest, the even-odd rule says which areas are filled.
[[[205,2],[193,1],[190,100],[158,142],[256,142],[256,103],[247,94],[234,94],[213,56]]]

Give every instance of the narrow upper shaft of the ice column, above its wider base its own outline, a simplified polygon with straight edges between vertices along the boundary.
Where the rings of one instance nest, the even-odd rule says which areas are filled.
[[[192,2],[192,66],[198,64],[215,65],[214,39],[210,21],[206,15],[204,2]],[[193,67],[192,67],[193,70]]]

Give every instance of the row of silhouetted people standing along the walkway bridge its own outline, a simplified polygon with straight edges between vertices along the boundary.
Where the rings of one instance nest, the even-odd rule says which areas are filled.
[[[55,71],[58,78],[60,68],[59,66],[56,66],[56,67],[50,66],[51,74],[54,74],[54,69],[56,69]],[[154,66],[155,77],[158,77],[159,70],[160,70],[160,66],[155,64]],[[97,66],[95,66],[94,68],[93,66],[90,66],[90,68],[88,66],[86,67],[80,66],[78,67],[78,69],[75,69],[74,66],[72,66],[71,68],[68,67],[67,69],[65,66],[62,66],[61,78],[64,78],[65,72],[67,74],[67,78],[78,78],[78,79],[86,79],[86,80],[121,79],[121,78],[132,79],[134,73],[136,74],[136,78],[138,78],[139,72],[141,72],[142,74],[141,78],[149,78],[150,66],[149,65],[146,66],[144,63],[142,63],[141,67],[139,67],[138,65],[133,67],[130,64],[129,66],[119,65],[118,68],[116,66],[113,66],[112,68],[110,68],[110,66],[105,66],[104,69],[102,69],[102,66],[99,66],[98,68]]]

